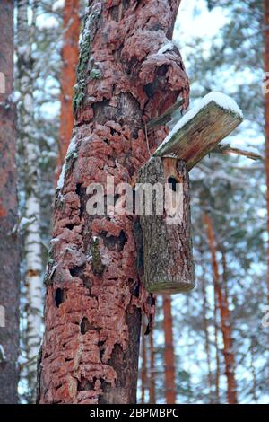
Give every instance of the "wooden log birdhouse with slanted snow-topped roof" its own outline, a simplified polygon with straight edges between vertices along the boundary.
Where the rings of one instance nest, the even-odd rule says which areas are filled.
[[[139,171],[136,195],[142,198],[143,285],[148,291],[177,294],[195,287],[188,171],[242,119],[230,97],[206,95]]]

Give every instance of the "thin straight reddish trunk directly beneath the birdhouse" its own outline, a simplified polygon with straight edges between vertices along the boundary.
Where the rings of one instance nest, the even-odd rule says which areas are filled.
[[[171,310],[171,297],[163,296],[163,330],[164,330],[164,369],[165,369],[165,397],[167,404],[175,404],[176,391],[176,367],[173,344],[173,321]]]

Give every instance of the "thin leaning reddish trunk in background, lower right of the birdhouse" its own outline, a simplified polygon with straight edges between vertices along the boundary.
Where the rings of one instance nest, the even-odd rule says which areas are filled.
[[[213,264],[213,278],[214,278],[214,288],[216,290],[216,295],[218,298],[218,306],[221,314],[221,332],[223,337],[223,354],[225,360],[225,374],[227,376],[227,385],[228,385],[228,402],[229,404],[237,403],[237,384],[235,379],[235,357],[232,349],[232,336],[230,330],[230,309],[228,298],[225,293],[222,291],[220,283],[220,273],[218,268],[217,261],[217,246],[215,235],[213,231],[213,222],[209,215],[204,215],[204,224],[207,228],[207,238],[210,251],[212,254],[212,264]]]

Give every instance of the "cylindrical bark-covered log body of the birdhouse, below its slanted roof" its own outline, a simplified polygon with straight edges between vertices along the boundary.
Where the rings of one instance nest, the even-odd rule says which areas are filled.
[[[177,185],[181,185],[178,192],[181,195],[182,206],[181,211],[178,209],[180,211],[178,221],[169,221],[168,224],[167,207],[164,207],[162,215],[156,214],[156,201],[159,198],[157,193],[153,195],[152,215],[140,215],[143,231],[143,285],[149,292],[159,294],[178,294],[195,287],[186,164],[177,159],[152,158],[139,171],[137,181],[141,185],[136,185],[136,189],[141,189],[144,183],[152,185],[160,183],[164,186],[170,178],[176,181]],[[172,201],[175,199],[174,194],[171,189]]]

